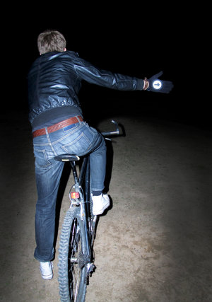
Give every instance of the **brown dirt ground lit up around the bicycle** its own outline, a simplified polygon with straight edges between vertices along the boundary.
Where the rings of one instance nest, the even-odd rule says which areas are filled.
[[[1,115],[0,301],[59,301],[58,253],[50,281],[42,280],[33,258],[36,189],[28,117],[13,112],[12,118],[13,124]],[[126,137],[112,139],[112,207],[98,223],[97,269],[86,301],[212,301],[211,132],[112,118],[124,125]],[[99,128],[108,124],[102,120]]]

